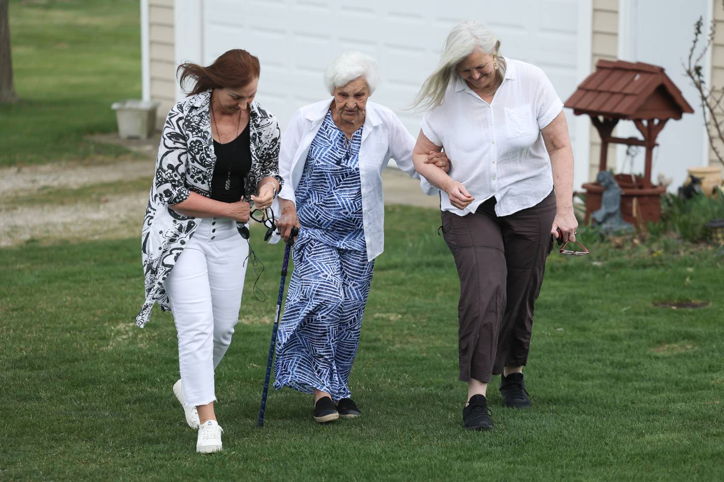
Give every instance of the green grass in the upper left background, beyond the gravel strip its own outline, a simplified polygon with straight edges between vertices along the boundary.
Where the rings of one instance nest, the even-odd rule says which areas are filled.
[[[83,140],[117,129],[111,103],[140,98],[138,0],[10,0],[15,90],[0,104],[0,166],[114,157]]]

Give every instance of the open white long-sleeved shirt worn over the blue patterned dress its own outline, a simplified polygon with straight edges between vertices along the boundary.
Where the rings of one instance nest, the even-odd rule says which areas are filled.
[[[300,108],[285,129],[279,152],[279,175],[284,186],[282,199],[296,202],[294,193],[304,171],[309,146],[327,115],[332,99],[321,100]],[[394,112],[374,102],[367,102],[362,142],[359,151],[360,184],[362,188],[362,224],[367,246],[367,260],[378,257],[384,249],[384,199],[382,171],[390,158],[413,178],[420,178],[412,163],[415,139]],[[437,189],[425,183],[427,194]]]

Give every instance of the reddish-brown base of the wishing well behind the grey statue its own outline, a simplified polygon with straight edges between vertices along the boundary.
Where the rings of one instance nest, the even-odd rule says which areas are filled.
[[[621,215],[623,220],[634,226],[638,224],[636,216],[634,216],[634,205],[636,205],[635,209],[636,212],[639,212],[639,220],[644,223],[658,223],[661,218],[661,195],[666,192],[665,186],[644,187],[644,178],[641,176],[616,174],[613,177],[616,184],[621,188]],[[586,189],[586,219],[584,223],[588,224],[592,213],[601,208],[604,188],[597,182],[586,183],[583,187]]]

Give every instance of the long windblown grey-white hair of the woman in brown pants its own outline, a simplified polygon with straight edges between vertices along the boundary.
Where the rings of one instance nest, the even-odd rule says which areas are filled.
[[[500,39],[480,22],[465,20],[452,27],[450,34],[447,35],[437,69],[423,83],[415,98],[413,108],[428,111],[442,105],[447,86],[458,74],[455,66],[473,53],[476,48],[481,48],[482,51],[491,55],[497,52],[497,74],[500,79],[503,79],[505,77],[505,59],[500,57]]]

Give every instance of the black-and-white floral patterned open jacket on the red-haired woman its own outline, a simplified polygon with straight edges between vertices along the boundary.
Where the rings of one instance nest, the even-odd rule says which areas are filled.
[[[206,197],[211,194],[216,155],[211,137],[210,101],[211,90],[182,100],[171,109],[164,124],[141,233],[146,301],[135,319],[140,328],[151,317],[153,304],[158,303],[164,311],[171,309],[163,283],[198,225],[196,218],[182,215],[169,205],[184,201],[190,191]],[[283,182],[279,176],[277,119],[256,102],[251,104],[249,134],[251,170],[244,193],[247,200],[256,194],[261,179],[274,177],[280,185]]]

